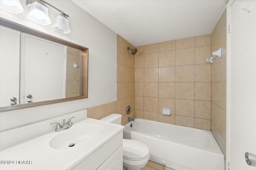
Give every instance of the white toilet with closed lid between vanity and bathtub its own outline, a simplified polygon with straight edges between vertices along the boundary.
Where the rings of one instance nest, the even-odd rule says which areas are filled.
[[[109,123],[121,125],[122,115],[112,113],[100,119]],[[148,147],[140,142],[130,139],[123,139],[123,166],[126,170],[140,170],[149,160]]]

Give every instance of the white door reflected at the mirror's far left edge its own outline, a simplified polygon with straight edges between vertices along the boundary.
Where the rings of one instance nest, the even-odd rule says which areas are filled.
[[[19,104],[20,32],[0,26],[0,107]],[[16,98],[17,101],[11,101]]]

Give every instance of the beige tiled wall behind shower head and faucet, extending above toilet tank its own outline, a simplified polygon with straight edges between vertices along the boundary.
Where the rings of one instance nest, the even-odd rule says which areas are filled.
[[[117,35],[116,37],[116,102],[87,109],[87,116],[100,119],[111,113],[122,115],[122,125],[128,117],[134,118],[134,55],[128,47],[134,46]],[[131,106],[132,112],[127,115],[126,108]]]

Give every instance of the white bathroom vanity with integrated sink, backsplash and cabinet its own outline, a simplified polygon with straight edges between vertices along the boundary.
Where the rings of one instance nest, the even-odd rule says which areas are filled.
[[[17,138],[21,138],[18,131],[27,131],[31,134],[31,139],[20,139],[23,142],[13,146],[1,146],[0,169],[121,170],[124,127],[87,117],[83,119],[86,110],[78,112],[2,132],[1,137],[5,137],[4,140],[7,141],[11,141],[11,138],[15,140],[15,134]],[[56,120],[61,122],[63,118],[67,120],[73,116],[76,117],[74,124],[68,129],[55,132],[55,125],[50,126]],[[44,127],[50,131],[33,137],[36,130]],[[41,130],[38,131],[42,133]],[[1,145],[7,146],[4,140],[1,140]]]

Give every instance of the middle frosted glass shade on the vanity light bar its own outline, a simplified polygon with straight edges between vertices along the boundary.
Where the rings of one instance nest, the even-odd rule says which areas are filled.
[[[48,8],[43,3],[40,3],[40,1],[31,4],[27,19],[41,25],[49,25],[51,23],[48,16]]]

